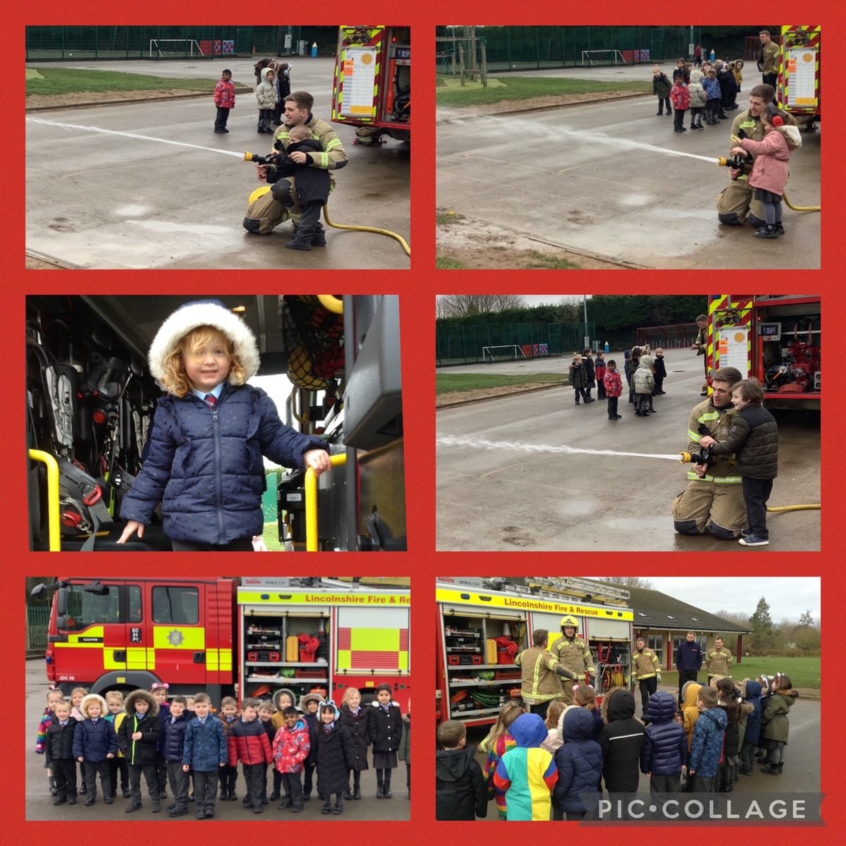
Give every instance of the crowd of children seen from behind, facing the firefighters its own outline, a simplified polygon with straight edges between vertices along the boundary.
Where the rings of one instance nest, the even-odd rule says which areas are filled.
[[[493,799],[503,820],[580,820],[588,811],[585,794],[598,799],[603,785],[611,795],[636,793],[640,773],[650,777],[657,797],[683,789],[731,792],[741,775],[753,772],[755,757],[762,772],[783,770],[788,711],[796,700],[786,675],[688,682],[682,709],[673,694],[659,691],[645,724],[634,717],[628,689],[610,689],[602,706],[590,685],[576,685],[573,693],[573,705],[550,703],[546,722],[508,702],[478,750],[466,745],[464,723],[442,722],[437,819],[485,817]],[[484,766],[477,751],[487,755]]]

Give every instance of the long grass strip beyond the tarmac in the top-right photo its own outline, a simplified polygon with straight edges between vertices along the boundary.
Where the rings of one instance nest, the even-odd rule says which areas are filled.
[[[492,80],[489,80],[489,83]],[[529,100],[532,97],[562,94],[592,94],[602,91],[633,91],[651,94],[649,82],[598,82],[596,80],[571,80],[567,77],[506,76],[497,78],[497,85],[482,88],[459,85],[452,77],[440,77],[437,102],[442,106],[479,106],[503,100]]]

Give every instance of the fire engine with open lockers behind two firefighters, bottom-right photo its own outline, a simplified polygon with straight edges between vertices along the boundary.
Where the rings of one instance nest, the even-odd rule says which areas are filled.
[[[531,645],[535,629],[547,629],[552,646],[568,614],[579,619],[579,636],[591,649],[596,694],[601,698],[618,685],[631,688],[634,612],[624,605],[629,591],[567,577],[523,581],[437,579],[439,722],[495,722],[508,700],[520,699],[521,671],[514,656]]]

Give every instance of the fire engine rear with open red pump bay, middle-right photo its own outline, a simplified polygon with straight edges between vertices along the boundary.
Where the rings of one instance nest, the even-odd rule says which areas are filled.
[[[711,294],[708,365],[754,376],[771,409],[820,409],[819,294]]]

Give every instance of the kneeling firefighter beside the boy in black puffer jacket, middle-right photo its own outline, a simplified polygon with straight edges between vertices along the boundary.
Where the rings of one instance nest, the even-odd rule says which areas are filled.
[[[714,393],[690,412],[687,452],[699,453],[703,435],[724,441],[732,426],[732,387],[740,382],[736,367],[721,367],[711,379]],[[740,536],[746,527],[743,479],[731,455],[694,464],[688,486],[673,501],[673,528],[680,535],[711,535],[724,540]]]

